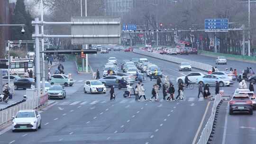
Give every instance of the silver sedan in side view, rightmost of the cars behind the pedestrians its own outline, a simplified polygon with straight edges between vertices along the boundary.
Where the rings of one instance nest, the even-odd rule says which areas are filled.
[[[225,77],[218,77],[215,75],[205,75],[201,78],[198,78],[196,83],[209,84],[210,86],[214,86],[216,85],[216,81],[219,82],[220,87],[230,86],[233,84],[229,79],[226,79]]]

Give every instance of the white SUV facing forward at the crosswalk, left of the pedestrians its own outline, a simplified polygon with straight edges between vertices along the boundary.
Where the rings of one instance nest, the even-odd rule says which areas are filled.
[[[101,81],[85,81],[83,92],[87,93],[106,93],[106,86]]]

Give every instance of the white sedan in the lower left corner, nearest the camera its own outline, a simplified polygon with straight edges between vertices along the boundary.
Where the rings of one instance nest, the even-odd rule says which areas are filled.
[[[19,110],[15,117],[12,117],[12,132],[15,130],[32,129],[37,131],[41,128],[41,115],[37,110]]]

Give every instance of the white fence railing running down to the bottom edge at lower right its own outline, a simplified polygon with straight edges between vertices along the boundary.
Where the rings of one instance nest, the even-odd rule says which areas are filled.
[[[213,127],[213,122],[217,110],[217,106],[219,105],[219,102],[221,101],[221,97],[219,94],[215,96],[215,100],[211,109],[210,113],[210,118],[208,119],[204,129],[202,130],[201,136],[197,142],[197,144],[208,144],[208,139],[210,137],[212,127]]]

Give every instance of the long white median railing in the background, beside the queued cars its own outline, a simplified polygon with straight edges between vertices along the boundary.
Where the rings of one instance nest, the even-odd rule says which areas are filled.
[[[178,64],[180,64],[182,62],[188,62],[191,64],[192,68],[199,69],[199,70],[206,71],[206,72],[208,72],[212,69],[212,65],[210,65],[210,64],[195,62],[195,61],[178,58],[178,57],[174,57],[174,56],[170,56],[170,55],[151,53],[151,52],[147,52],[147,51],[143,51],[143,50],[139,50],[139,49],[133,49],[133,53],[142,54],[142,55],[146,55],[146,56],[150,56],[150,57],[154,57],[157,59],[161,59],[161,60],[165,60],[165,61],[169,61],[169,62],[173,62],[173,63],[178,63]]]

